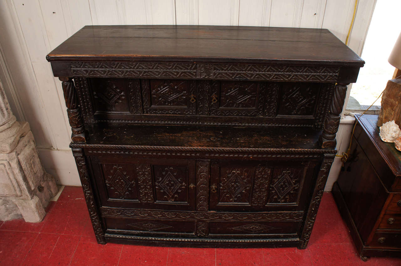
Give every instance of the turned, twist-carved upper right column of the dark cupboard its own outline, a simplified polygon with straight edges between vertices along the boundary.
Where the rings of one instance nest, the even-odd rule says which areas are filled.
[[[334,88],[333,99],[326,120],[324,121],[323,133],[320,136],[320,144],[322,144],[322,148],[335,149],[336,147],[336,133],[338,131],[338,126],[340,125],[341,111],[344,105],[348,84],[338,83]]]

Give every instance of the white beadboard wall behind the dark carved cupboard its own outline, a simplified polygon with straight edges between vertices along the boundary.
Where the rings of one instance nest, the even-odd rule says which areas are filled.
[[[345,42],[355,0],[2,0],[0,79],[20,121],[28,121],[46,170],[80,185],[71,129],[46,54],[85,25],[199,24],[328,28]],[[362,53],[376,0],[359,0],[348,46]],[[342,123],[338,148],[349,130]],[[345,138],[344,138],[345,136]],[[344,141],[343,141],[344,139]],[[334,164],[336,165],[336,163]],[[336,169],[334,169],[336,168]],[[326,189],[338,175],[334,166]]]

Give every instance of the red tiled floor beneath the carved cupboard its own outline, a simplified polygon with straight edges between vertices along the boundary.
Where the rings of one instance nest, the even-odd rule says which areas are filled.
[[[331,193],[324,193],[308,248],[160,248],[98,245],[81,187],[65,187],[40,223],[0,221],[0,265],[379,265],[360,260]]]

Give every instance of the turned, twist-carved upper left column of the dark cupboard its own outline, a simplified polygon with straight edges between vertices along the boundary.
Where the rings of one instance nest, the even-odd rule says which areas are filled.
[[[59,80],[62,81],[65,105],[72,131],[71,139],[73,142],[85,142],[85,129],[73,80],[69,77],[59,77]]]

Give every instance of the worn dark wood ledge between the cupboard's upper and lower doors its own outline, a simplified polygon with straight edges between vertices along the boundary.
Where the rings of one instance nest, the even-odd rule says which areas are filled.
[[[321,130],[311,127],[183,125],[97,125],[89,132],[88,144],[261,149],[319,149],[321,134]]]

